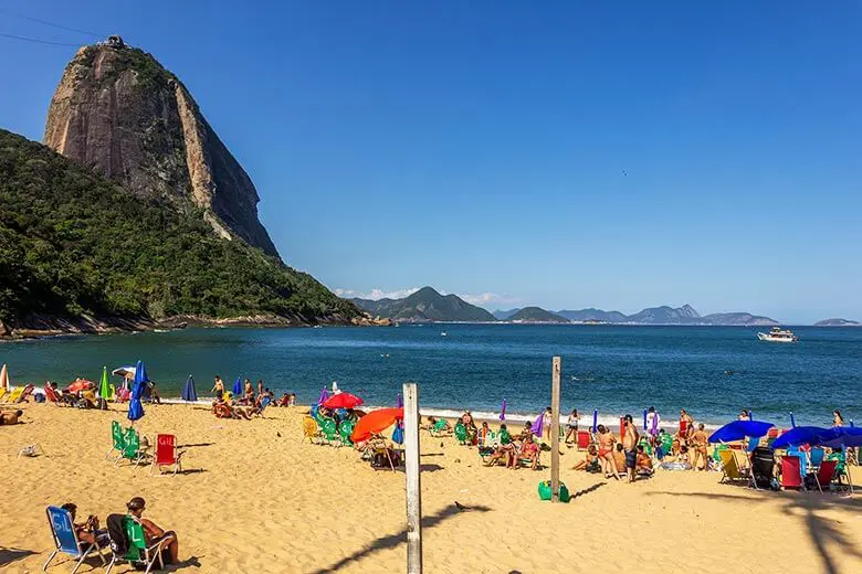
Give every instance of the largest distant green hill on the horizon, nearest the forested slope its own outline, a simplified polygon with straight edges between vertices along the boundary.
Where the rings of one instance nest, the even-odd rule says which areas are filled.
[[[495,321],[485,309],[470,305],[456,295],[440,295],[431,287],[423,287],[403,299],[353,299],[358,307],[393,321]]]

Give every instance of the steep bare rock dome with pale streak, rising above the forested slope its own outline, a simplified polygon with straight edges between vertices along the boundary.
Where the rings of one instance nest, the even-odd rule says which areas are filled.
[[[135,193],[201,209],[219,235],[278,255],[248,173],[179,79],[140,50],[78,50],[51,100],[44,144]]]

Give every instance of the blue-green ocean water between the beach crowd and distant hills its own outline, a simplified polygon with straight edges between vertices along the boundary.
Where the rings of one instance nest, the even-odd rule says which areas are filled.
[[[711,424],[742,408],[788,425],[828,425],[839,408],[862,424],[862,329],[795,329],[797,344],[757,340],[755,328],[527,325],[423,325],[398,328],[187,329],[165,333],[62,337],[0,344],[12,382],[98,380],[143,360],[162,396],[191,374],[207,396],[213,376],[249,378],[299,403],[338,382],[370,405],[392,405],[400,385],[420,385],[423,410],[470,408],[509,418],[550,402],[551,357],[563,358],[561,411],[602,421],[664,419],[681,407]],[[445,332],[445,336],[441,333]]]

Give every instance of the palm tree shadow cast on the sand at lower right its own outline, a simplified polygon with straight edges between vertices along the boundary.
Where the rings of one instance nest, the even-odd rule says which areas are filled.
[[[742,488],[742,487],[740,487]],[[695,497],[713,500],[727,500],[733,502],[739,502],[743,504],[751,504],[764,502],[767,499],[780,497],[782,500],[781,511],[789,517],[800,517],[808,529],[808,534],[811,538],[811,542],[814,544],[820,560],[822,562],[822,572],[828,574],[839,574],[839,570],[835,567],[832,552],[840,552],[842,554],[850,554],[852,556],[862,560],[862,550],[859,548],[858,540],[851,540],[839,531],[833,524],[834,521],[826,519],[818,512],[832,509],[858,509],[862,510],[862,500],[852,498],[839,498],[832,493],[790,493],[790,492],[772,492],[772,491],[755,491],[748,490],[748,493],[757,495],[757,498],[750,498],[738,495],[708,495],[702,492],[646,492],[646,495],[658,496],[665,495],[671,497]],[[858,511],[856,510],[856,511]],[[832,550],[830,550],[830,545]]]

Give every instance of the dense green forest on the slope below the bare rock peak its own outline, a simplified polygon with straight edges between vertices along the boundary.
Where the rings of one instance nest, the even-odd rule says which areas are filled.
[[[274,313],[306,321],[359,310],[201,212],[141,200],[40,144],[0,130],[0,321]]]

